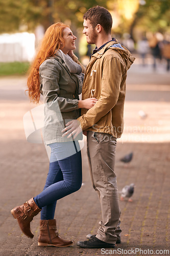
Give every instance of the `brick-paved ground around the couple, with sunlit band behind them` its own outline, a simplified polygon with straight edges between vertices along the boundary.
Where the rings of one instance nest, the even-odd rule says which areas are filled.
[[[156,72],[142,68],[138,59],[128,75],[125,104],[125,132],[118,140],[116,173],[118,189],[135,183],[133,202],[120,202],[122,244],[116,251],[83,249],[76,241],[95,233],[101,218],[98,196],[91,187],[86,147],[83,147],[83,186],[57,202],[56,219],[61,237],[72,239],[66,248],[38,247],[39,219],[31,223],[34,239],[24,236],[10,209],[40,193],[48,157],[43,144],[28,143],[23,129],[23,115],[35,107],[24,94],[26,78],[1,78],[0,101],[0,254],[6,255],[165,255],[170,244],[170,72],[164,64]],[[139,111],[147,114],[145,119]],[[86,141],[85,141],[86,144]],[[120,157],[133,152],[125,166]],[[140,251],[135,251],[135,248]],[[149,251],[150,250],[150,251]],[[153,250],[153,251],[152,251]],[[156,250],[160,250],[159,252]]]

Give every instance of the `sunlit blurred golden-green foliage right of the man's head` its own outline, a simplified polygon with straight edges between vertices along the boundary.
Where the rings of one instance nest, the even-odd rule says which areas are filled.
[[[169,0],[110,0],[107,5],[112,11],[114,33],[129,33],[135,39],[137,29],[163,33],[169,27]]]

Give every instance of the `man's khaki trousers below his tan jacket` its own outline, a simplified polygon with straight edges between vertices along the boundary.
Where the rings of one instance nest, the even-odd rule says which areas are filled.
[[[98,192],[102,220],[96,238],[115,244],[120,239],[120,209],[114,173],[116,139],[110,134],[87,132],[87,155],[93,188]]]

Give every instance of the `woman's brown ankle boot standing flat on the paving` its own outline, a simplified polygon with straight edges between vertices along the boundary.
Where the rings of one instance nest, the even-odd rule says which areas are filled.
[[[39,246],[66,247],[71,244],[72,241],[66,241],[59,237],[56,220],[40,220]]]

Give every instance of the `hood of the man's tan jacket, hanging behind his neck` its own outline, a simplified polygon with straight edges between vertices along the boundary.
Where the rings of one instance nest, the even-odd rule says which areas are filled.
[[[126,47],[120,45],[120,43],[117,41],[117,39],[116,39],[116,41],[108,42],[108,44],[105,47],[103,47],[100,51],[96,52],[92,56],[95,56],[96,58],[100,58],[108,49],[117,51],[122,56],[122,58],[125,60],[127,70],[130,68],[130,66],[132,65],[132,63],[135,60],[135,58],[132,56],[130,51]]]

